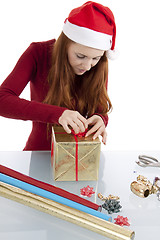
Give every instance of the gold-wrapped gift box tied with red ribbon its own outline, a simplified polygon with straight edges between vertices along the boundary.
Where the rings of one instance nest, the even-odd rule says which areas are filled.
[[[56,181],[97,180],[101,143],[93,135],[68,134],[60,126],[52,128],[51,165]]]

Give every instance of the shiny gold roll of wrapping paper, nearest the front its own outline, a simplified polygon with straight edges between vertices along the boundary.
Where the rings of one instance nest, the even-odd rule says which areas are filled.
[[[85,227],[110,239],[134,239],[135,233],[111,222],[0,182],[0,195],[55,217]]]

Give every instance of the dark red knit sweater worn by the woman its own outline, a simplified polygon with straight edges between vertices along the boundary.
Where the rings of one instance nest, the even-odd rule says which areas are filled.
[[[0,115],[33,122],[24,150],[50,150],[51,135],[47,137],[47,123],[58,124],[59,117],[66,110],[42,103],[49,89],[47,75],[54,42],[55,40],[32,43],[0,86]],[[28,82],[31,101],[19,97]],[[107,116],[101,117],[107,125]]]

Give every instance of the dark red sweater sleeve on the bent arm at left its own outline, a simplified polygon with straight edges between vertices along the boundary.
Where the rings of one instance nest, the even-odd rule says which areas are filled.
[[[66,108],[20,98],[20,94],[36,74],[35,44],[22,54],[16,66],[0,86],[0,115],[7,118],[58,123]]]

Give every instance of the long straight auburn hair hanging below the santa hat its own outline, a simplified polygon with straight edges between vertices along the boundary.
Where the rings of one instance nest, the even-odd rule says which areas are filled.
[[[112,108],[106,86],[108,60],[104,53],[99,62],[83,75],[75,75],[68,61],[68,47],[72,41],[62,32],[53,47],[48,74],[50,89],[45,102],[79,111],[91,116],[98,111],[105,115]]]

